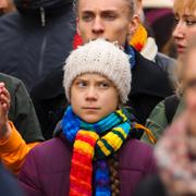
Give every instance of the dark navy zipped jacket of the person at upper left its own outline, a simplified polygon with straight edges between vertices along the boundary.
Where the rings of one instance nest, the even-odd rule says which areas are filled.
[[[72,50],[73,0],[15,0],[17,10],[0,17],[0,72],[30,90]]]

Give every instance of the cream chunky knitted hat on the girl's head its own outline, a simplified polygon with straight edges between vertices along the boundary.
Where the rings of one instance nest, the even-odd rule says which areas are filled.
[[[128,56],[117,45],[96,39],[71,52],[65,61],[63,78],[69,101],[73,81],[85,73],[98,73],[112,81],[121,102],[126,102],[131,90],[131,65]]]

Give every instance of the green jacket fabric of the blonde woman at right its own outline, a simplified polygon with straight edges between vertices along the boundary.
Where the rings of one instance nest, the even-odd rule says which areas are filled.
[[[184,101],[183,98],[181,98],[172,121],[174,121],[182,113],[183,109],[184,109]],[[151,111],[149,118],[146,121],[146,127],[148,127],[152,132],[156,139],[158,140],[162,135],[162,133],[164,132],[164,130],[168,127],[168,125],[169,124],[166,117],[164,101],[161,101]],[[146,133],[143,134],[140,139],[145,143],[151,144]]]

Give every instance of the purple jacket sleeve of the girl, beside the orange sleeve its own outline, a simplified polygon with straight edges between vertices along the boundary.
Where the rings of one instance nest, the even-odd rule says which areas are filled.
[[[42,196],[45,195],[41,191],[41,183],[39,179],[39,170],[36,156],[34,150],[32,150],[21,169],[19,174],[19,184],[21,185],[24,193],[28,196]]]

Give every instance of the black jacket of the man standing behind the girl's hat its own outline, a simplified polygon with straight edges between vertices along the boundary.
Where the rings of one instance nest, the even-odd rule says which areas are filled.
[[[132,70],[132,89],[127,106],[140,123],[145,124],[150,111],[164,97],[173,93],[164,72],[156,63],[135,51],[136,65]],[[46,139],[51,138],[54,126],[61,120],[68,102],[62,87],[63,71],[57,70],[38,84],[32,98]],[[41,95],[40,95],[41,93]]]

